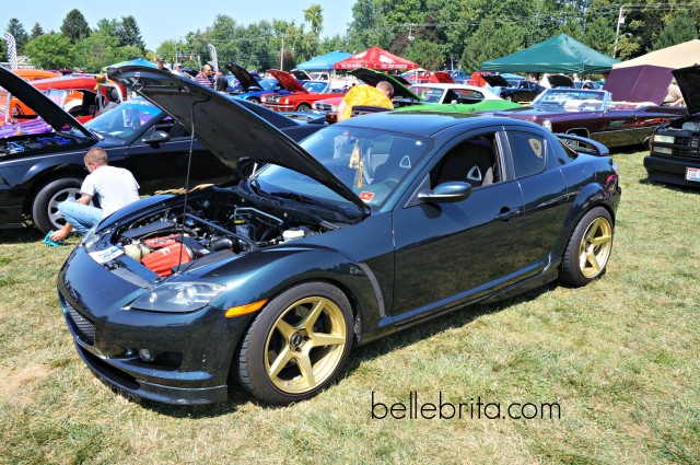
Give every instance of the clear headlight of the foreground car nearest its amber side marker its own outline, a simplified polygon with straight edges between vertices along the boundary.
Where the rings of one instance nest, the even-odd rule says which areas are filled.
[[[194,312],[208,305],[224,289],[226,289],[225,286],[205,282],[165,283],[138,298],[126,310],[170,313]]]

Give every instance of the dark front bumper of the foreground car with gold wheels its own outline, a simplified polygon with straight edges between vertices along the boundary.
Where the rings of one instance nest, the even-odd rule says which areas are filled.
[[[117,274],[78,247],[63,265],[59,301],[80,357],[101,380],[139,397],[168,404],[226,400],[231,361],[248,318],[224,318],[214,306],[186,314],[125,310],[145,291],[128,275],[128,260],[113,267]],[[143,361],[139,349],[158,358]]]

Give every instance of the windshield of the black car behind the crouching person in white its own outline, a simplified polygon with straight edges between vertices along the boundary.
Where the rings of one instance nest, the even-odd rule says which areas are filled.
[[[128,139],[161,114],[161,109],[148,101],[135,98],[91,119],[85,126],[101,136]]]

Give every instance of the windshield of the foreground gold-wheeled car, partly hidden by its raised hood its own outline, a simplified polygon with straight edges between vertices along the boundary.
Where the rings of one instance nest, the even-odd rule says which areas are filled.
[[[313,133],[301,146],[377,211],[398,184],[412,173],[431,140],[337,125]],[[266,166],[257,181],[260,189],[268,194],[293,193],[324,204],[357,209],[330,188],[278,165]]]

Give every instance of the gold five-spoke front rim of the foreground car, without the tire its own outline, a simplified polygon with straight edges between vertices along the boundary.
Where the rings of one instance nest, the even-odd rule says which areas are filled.
[[[322,297],[302,299],[282,312],[267,336],[267,374],[280,391],[307,393],[334,374],[346,344],[340,307]]]

